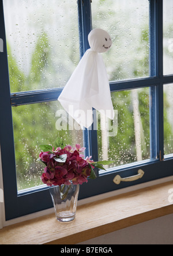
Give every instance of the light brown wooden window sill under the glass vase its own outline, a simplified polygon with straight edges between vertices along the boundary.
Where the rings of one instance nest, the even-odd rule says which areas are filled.
[[[77,207],[76,219],[61,223],[55,214],[0,230],[0,244],[77,244],[173,213],[173,181],[111,196]]]

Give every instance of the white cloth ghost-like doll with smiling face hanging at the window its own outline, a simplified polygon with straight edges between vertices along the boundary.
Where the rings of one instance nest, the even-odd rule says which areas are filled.
[[[103,29],[95,28],[88,35],[88,42],[91,49],[85,52],[58,98],[82,128],[92,125],[93,108],[114,119],[110,85],[100,54],[110,49],[111,37]]]

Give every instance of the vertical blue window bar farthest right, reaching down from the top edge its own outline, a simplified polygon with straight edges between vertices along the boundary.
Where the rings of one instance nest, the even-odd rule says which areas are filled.
[[[150,76],[158,78],[150,91],[151,158],[163,159],[163,1],[149,1]]]

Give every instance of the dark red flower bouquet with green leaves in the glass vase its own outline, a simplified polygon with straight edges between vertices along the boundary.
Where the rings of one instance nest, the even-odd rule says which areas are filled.
[[[46,167],[41,179],[49,187],[62,184],[70,185],[83,184],[89,179],[96,179],[95,168],[104,169],[103,165],[111,164],[112,161],[94,162],[92,157],[84,158],[85,147],[76,144],[76,147],[70,145],[63,149],[52,145],[44,144],[40,146],[42,152],[39,155]],[[105,169],[104,169],[105,170]]]

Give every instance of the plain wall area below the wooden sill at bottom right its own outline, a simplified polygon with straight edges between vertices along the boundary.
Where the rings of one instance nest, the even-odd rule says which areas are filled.
[[[173,214],[79,244],[173,244]]]

